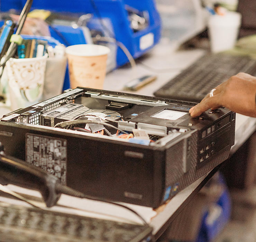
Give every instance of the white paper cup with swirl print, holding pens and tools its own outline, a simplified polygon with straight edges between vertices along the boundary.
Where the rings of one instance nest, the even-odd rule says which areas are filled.
[[[6,63],[11,109],[31,106],[40,101],[48,55],[35,58],[10,58]]]

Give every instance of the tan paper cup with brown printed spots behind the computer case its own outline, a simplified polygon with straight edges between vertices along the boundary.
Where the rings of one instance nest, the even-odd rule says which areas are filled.
[[[70,86],[103,89],[110,49],[102,45],[72,45],[66,47]]]

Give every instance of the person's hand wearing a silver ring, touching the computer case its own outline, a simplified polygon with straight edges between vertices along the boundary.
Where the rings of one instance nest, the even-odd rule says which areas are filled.
[[[191,117],[199,116],[208,109],[225,106],[229,110],[250,117],[256,117],[256,77],[246,73],[231,76],[226,82],[218,85],[215,91],[189,110]]]

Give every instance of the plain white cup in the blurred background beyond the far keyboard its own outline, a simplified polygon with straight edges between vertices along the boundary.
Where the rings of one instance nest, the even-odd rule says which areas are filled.
[[[232,49],[236,44],[240,25],[241,14],[238,12],[210,16],[208,27],[211,51],[217,53]]]

